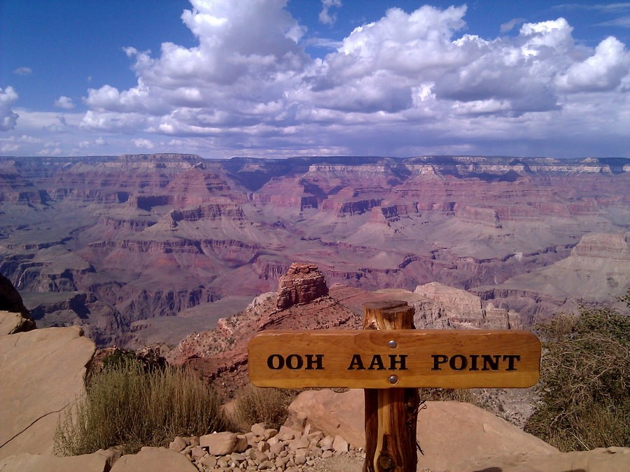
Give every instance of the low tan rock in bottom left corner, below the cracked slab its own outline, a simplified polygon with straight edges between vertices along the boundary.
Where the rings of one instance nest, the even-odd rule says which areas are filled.
[[[0,459],[2,472],[107,472],[120,457],[120,452],[99,450],[93,454],[71,457],[29,454],[22,452]]]

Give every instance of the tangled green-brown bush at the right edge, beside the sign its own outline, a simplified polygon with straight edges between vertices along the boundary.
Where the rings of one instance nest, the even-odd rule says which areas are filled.
[[[582,308],[539,330],[540,402],[526,431],[562,451],[629,447],[630,317]]]

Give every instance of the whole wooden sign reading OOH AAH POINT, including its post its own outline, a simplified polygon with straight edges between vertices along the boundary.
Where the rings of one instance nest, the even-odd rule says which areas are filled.
[[[363,306],[363,331],[262,331],[248,345],[259,387],[365,391],[364,472],[416,470],[418,387],[531,387],[540,341],[529,331],[415,330],[405,301]]]

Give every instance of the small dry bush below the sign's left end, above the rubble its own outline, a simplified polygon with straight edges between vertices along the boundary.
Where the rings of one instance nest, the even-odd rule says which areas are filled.
[[[299,392],[295,389],[248,385],[235,399],[235,427],[249,431],[252,424],[262,422],[267,428],[279,429],[288,417],[288,406]]]

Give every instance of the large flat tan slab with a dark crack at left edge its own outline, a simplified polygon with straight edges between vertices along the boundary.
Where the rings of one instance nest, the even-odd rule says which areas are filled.
[[[52,453],[59,414],[83,392],[94,350],[79,327],[0,336],[0,458]]]

